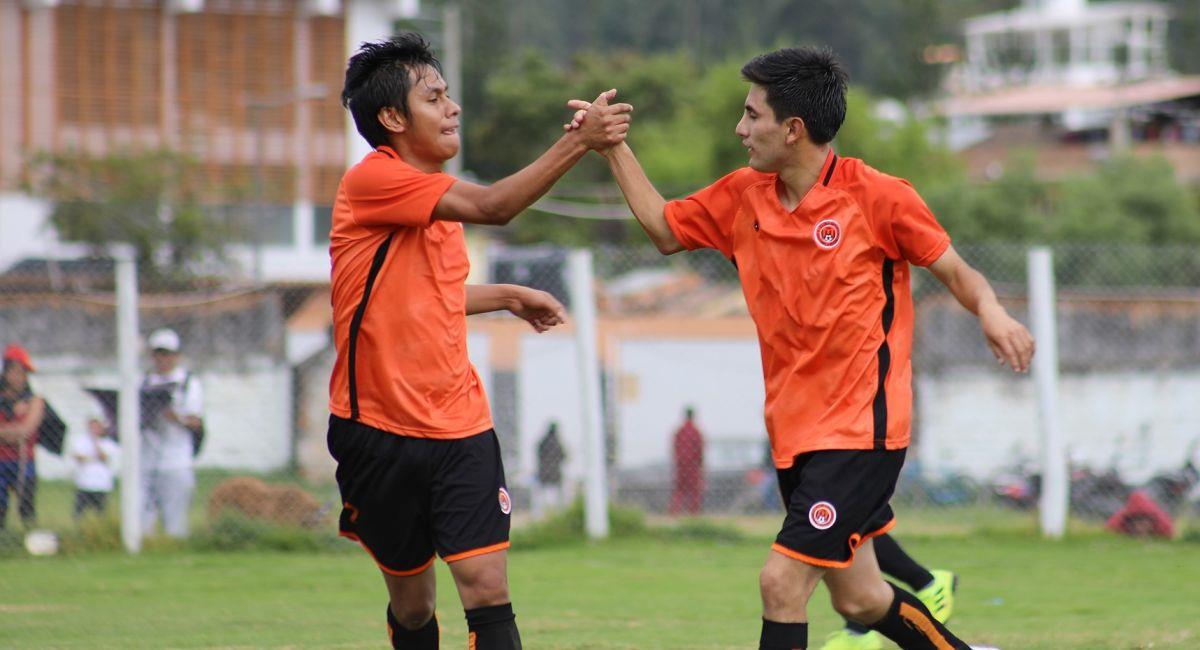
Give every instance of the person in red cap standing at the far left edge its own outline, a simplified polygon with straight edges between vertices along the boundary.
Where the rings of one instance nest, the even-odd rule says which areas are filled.
[[[34,395],[29,373],[34,361],[20,345],[8,345],[0,371],[0,529],[8,519],[8,492],[17,495],[20,520],[31,528],[37,518],[37,467],[34,445],[46,416],[46,402]]]

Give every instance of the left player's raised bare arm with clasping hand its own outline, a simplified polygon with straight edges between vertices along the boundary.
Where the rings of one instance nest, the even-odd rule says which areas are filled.
[[[433,218],[504,225],[533,205],[588,152],[607,149],[625,140],[629,131],[629,104],[610,104],[616,90],[601,92],[587,109],[587,121],[563,134],[545,154],[524,169],[482,186],[458,181],[443,194]]]

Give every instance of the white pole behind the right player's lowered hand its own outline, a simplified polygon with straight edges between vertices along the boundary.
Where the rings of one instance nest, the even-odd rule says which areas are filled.
[[[1028,254],[1030,319],[1038,353],[1033,380],[1038,392],[1038,428],[1042,434],[1042,535],[1061,538],[1067,530],[1070,486],[1067,480],[1067,441],[1058,422],[1058,326],[1055,314],[1054,257],[1046,247]]]

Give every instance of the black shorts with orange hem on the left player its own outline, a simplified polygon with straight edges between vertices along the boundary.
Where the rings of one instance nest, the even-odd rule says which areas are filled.
[[[434,552],[452,562],[509,547],[512,501],[493,429],[408,438],[331,416],[328,443],[342,493],[338,532],[385,572],[420,573]]]

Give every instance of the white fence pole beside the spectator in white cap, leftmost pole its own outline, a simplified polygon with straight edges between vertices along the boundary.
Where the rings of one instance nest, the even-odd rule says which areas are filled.
[[[138,267],[132,247],[113,251],[116,259],[116,432],[121,443],[121,541],[142,550],[142,405],[138,396]]]

